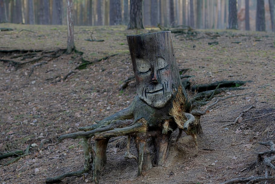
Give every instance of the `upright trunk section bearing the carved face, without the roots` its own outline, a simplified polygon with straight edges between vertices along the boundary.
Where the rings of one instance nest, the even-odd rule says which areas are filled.
[[[137,95],[154,108],[164,107],[180,86],[170,31],[128,35]]]

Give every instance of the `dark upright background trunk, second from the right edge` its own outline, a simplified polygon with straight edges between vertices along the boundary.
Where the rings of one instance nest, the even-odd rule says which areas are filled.
[[[264,0],[257,0],[256,31],[265,31]]]

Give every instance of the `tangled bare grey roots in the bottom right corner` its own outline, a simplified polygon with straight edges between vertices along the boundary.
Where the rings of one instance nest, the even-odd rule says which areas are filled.
[[[275,176],[269,176],[270,169],[275,170],[275,166],[271,163],[275,160],[275,155],[271,156],[271,154],[275,154],[275,144],[273,141],[259,142],[259,144],[270,147],[270,150],[265,151],[265,152],[260,152],[257,155],[256,164],[258,165],[260,162],[263,161],[263,164],[265,167],[265,176],[251,176],[248,178],[234,178],[234,179],[230,179],[228,181],[222,182],[220,184],[234,184],[234,183],[244,183],[244,182],[247,182],[247,184],[252,184],[252,183],[257,183],[260,181],[267,181],[267,180],[275,179]],[[268,157],[263,158],[265,155],[267,155]]]

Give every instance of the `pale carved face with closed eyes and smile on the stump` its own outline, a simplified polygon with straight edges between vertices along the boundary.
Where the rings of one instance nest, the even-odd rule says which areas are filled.
[[[137,95],[148,105],[163,107],[172,97],[170,65],[162,56],[136,59]]]

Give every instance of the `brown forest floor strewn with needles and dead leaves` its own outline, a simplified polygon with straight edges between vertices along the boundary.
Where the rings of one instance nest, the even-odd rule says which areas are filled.
[[[160,30],[75,26],[76,49],[83,55],[66,55],[60,50],[66,49],[66,26],[0,27],[13,29],[0,32],[0,152],[24,151],[32,145],[29,154],[15,163],[4,166],[12,158],[0,160],[1,183],[44,183],[47,177],[82,169],[80,140],[66,139],[56,145],[57,137],[77,132],[78,127],[91,125],[131,103],[136,95],[135,83],[121,90],[124,81],[133,75],[126,35]],[[112,139],[100,183],[217,184],[237,177],[264,176],[264,168],[254,162],[258,152],[269,149],[258,142],[275,138],[274,33],[196,31],[172,34],[179,68],[190,68],[186,75],[193,76],[189,79],[191,86],[221,80],[251,82],[243,86],[245,90],[225,91],[209,102],[241,95],[218,102],[201,117],[203,134],[198,156],[191,137],[183,133],[179,142],[172,139],[165,165],[137,177],[137,163],[124,159],[126,137]],[[91,33],[93,39],[105,41],[86,41]],[[36,52],[28,51],[34,49]],[[110,57],[100,61],[106,56]],[[83,60],[93,63],[86,69],[75,69]],[[234,122],[251,105],[254,108],[245,112],[236,125],[221,127]],[[135,153],[133,143],[131,150]],[[91,182],[89,174],[66,178],[61,183]]]

